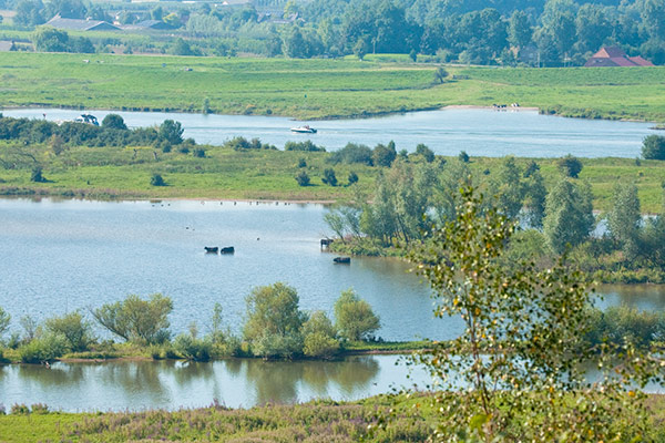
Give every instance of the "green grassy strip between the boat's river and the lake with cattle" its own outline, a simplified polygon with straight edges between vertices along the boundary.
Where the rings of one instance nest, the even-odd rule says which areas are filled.
[[[381,171],[362,164],[331,165],[327,162],[327,153],[234,151],[222,146],[205,146],[204,150],[205,157],[200,158],[175,148],[162,153],[145,147],[137,148],[134,154],[133,147],[80,146],[55,156],[47,145],[0,144],[0,159],[16,164],[16,168],[0,168],[0,195],[334,202],[352,196],[352,187],[346,186],[351,172],[358,175],[358,186],[369,195]],[[30,155],[43,166],[47,182],[31,182],[34,162]],[[305,167],[299,167],[300,159],[305,161]],[[526,164],[531,159],[518,161]],[[472,157],[470,167],[482,175],[485,169],[495,169],[500,162],[500,158]],[[661,212],[661,184],[665,181],[662,162],[641,161],[637,164],[631,158],[585,158],[582,162],[584,168],[580,179],[591,184],[596,209],[611,207],[616,183],[635,182],[643,212]],[[538,163],[548,186],[559,179],[556,159],[538,159]],[[335,169],[340,185],[328,186],[321,182],[324,171],[329,167]],[[299,186],[295,181],[300,171],[309,175],[309,186]],[[151,186],[153,174],[161,174],[166,186]]]

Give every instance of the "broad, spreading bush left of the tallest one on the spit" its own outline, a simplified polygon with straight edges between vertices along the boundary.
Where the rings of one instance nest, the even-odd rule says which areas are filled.
[[[153,293],[147,300],[131,295],[123,301],[102,305],[91,313],[102,327],[126,341],[154,344],[168,339],[172,310],[170,297]]]

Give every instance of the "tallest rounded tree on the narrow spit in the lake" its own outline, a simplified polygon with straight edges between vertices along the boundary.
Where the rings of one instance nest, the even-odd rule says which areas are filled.
[[[252,352],[264,358],[290,358],[303,350],[300,329],[307,316],[298,309],[296,290],[282,282],[254,288],[245,298],[243,328]]]

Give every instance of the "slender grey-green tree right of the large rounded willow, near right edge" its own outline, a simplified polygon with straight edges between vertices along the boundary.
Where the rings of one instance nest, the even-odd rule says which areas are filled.
[[[612,210],[607,214],[607,226],[628,259],[637,254],[641,223],[637,186],[634,183],[617,185],[614,189]]]

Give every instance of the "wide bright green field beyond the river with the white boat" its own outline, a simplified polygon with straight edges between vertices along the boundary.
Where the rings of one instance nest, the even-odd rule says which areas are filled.
[[[200,112],[208,99],[219,114],[311,120],[519,102],[561,115],[665,121],[665,68],[448,66],[451,76],[434,84],[434,65],[372,60],[8,52],[0,106]]]

